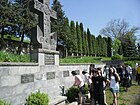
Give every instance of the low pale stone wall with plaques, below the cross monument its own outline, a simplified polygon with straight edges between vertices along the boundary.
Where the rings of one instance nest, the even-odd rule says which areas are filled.
[[[102,66],[102,65],[98,65]],[[63,94],[72,86],[72,70],[81,75],[89,64],[38,65],[37,63],[0,63],[0,99],[12,105],[23,105],[31,92],[40,90],[47,93],[50,100]]]

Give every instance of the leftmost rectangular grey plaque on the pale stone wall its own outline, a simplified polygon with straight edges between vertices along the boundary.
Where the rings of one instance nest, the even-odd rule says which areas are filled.
[[[34,74],[23,74],[21,75],[21,83],[34,82]]]

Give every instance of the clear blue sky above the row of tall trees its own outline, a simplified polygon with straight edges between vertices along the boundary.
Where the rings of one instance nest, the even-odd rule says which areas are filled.
[[[140,27],[140,0],[59,1],[69,21],[83,23],[84,29],[89,28],[95,36],[112,19],[124,19],[130,26]]]

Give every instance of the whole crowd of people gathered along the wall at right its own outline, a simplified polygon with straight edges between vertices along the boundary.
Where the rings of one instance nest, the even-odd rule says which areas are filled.
[[[71,72],[75,76],[73,85],[79,86],[80,104],[82,103],[82,92],[85,84],[88,85],[91,105],[107,105],[106,87],[109,87],[112,93],[112,105],[118,104],[118,94],[120,86],[124,87],[124,91],[128,91],[128,87],[132,85],[132,80],[136,80],[140,85],[140,64],[136,63],[134,69],[128,64],[120,64],[118,66],[107,65],[104,68],[96,68],[91,64],[89,71],[82,71],[84,79],[75,71]]]

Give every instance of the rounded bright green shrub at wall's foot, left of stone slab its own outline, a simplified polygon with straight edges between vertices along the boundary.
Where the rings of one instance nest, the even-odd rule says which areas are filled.
[[[40,91],[36,93],[31,93],[26,99],[25,105],[48,105],[49,98],[45,93],[40,93]]]

